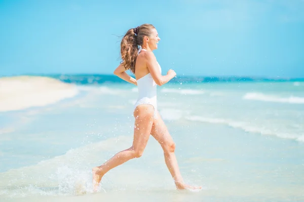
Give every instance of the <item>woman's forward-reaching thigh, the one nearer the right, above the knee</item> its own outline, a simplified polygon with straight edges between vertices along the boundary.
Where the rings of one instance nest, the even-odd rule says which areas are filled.
[[[174,141],[165,125],[162,117],[157,111],[157,119],[154,119],[151,135],[161,144],[164,148],[168,144],[173,144]]]

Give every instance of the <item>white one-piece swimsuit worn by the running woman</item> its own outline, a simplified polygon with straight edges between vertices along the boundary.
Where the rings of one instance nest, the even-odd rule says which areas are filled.
[[[158,64],[160,72],[162,68]],[[138,98],[134,105],[134,110],[137,106],[148,104],[154,107],[154,118],[157,118],[157,84],[150,73],[137,80]]]

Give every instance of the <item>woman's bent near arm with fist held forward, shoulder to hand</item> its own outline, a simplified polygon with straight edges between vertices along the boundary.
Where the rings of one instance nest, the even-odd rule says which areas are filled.
[[[154,81],[157,85],[164,85],[168,81],[170,81],[172,78],[176,76],[176,73],[174,70],[169,70],[167,75],[163,76],[159,70],[158,63],[156,60],[155,55],[153,52],[146,52],[145,54],[146,58],[146,64],[148,67],[148,70],[153,77]]]

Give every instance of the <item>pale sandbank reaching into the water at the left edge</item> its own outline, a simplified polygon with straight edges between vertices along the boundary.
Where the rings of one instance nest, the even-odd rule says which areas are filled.
[[[78,94],[73,84],[42,76],[0,78],[0,112],[42,107]]]

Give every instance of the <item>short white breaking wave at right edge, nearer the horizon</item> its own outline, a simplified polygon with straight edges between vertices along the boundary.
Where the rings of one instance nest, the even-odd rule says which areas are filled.
[[[259,100],[264,102],[304,104],[304,97],[278,97],[274,95],[266,95],[263,93],[250,92],[243,96],[243,99]]]

